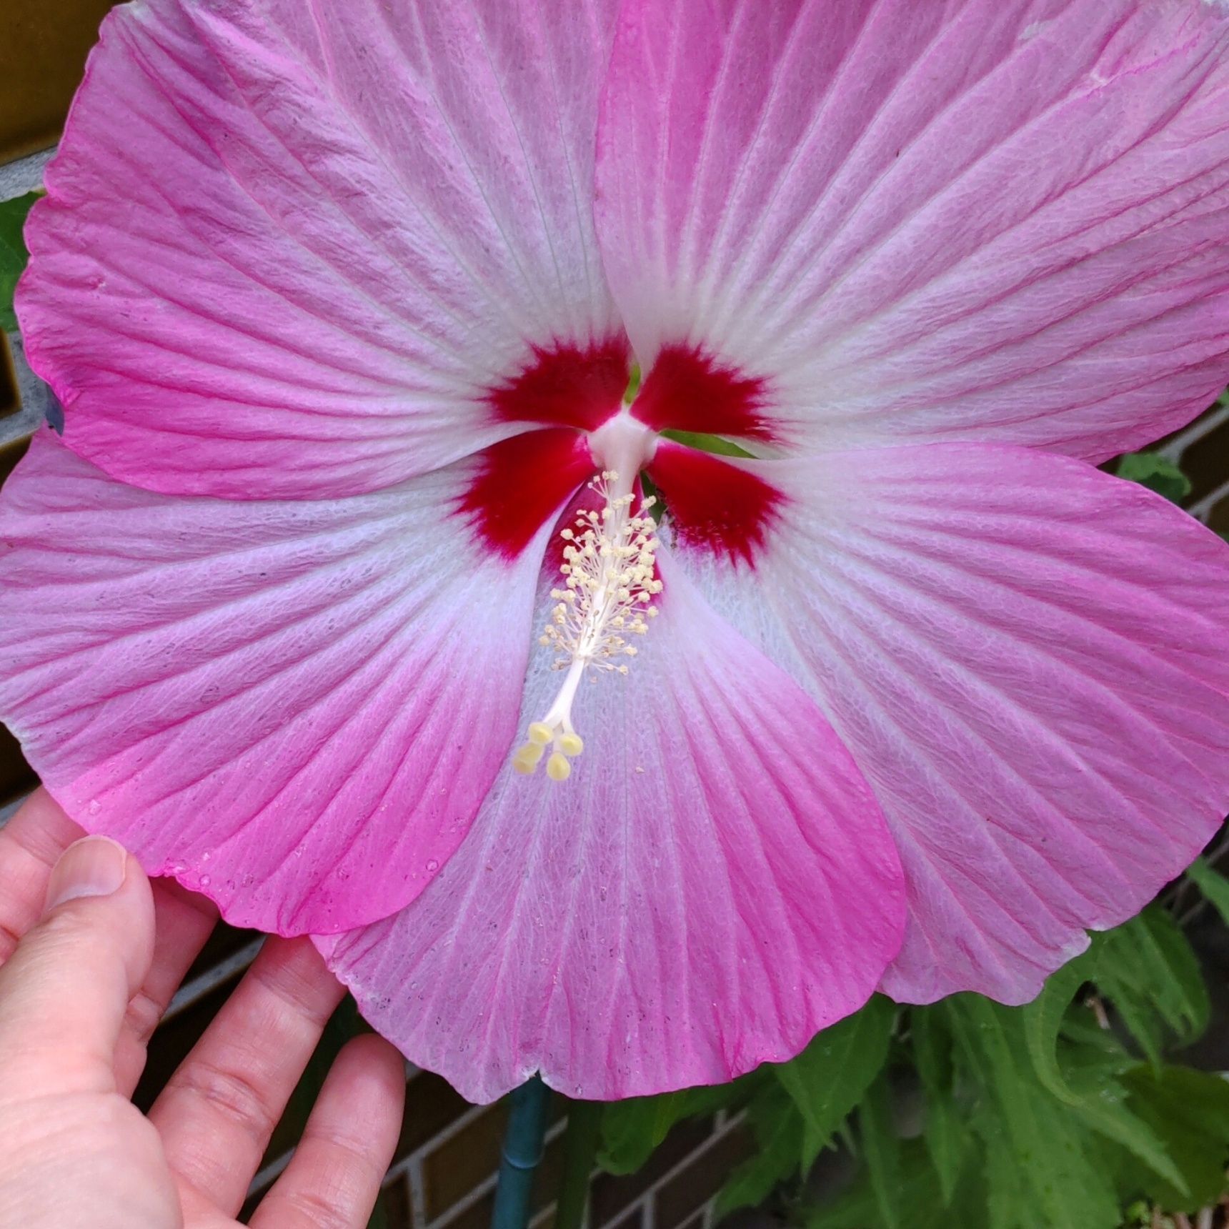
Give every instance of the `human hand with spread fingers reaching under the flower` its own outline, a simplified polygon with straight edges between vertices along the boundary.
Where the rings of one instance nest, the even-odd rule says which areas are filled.
[[[145,1046],[215,912],[81,836],[43,791],[0,830],[0,1229],[234,1229],[343,992],[310,941],[269,939],[146,1118]],[[351,1041],[253,1229],[366,1225],[404,1083]]]

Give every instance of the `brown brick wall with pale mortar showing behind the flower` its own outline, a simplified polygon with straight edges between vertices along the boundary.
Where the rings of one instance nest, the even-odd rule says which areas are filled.
[[[21,59],[32,85],[25,108],[14,108],[14,77],[0,60],[7,102],[0,107],[0,200],[37,187],[98,16],[109,0],[60,0],[64,15],[48,28],[43,0],[6,0],[0,16],[0,55]],[[7,108],[7,109],[5,109]],[[43,422],[45,392],[26,367],[16,338],[0,340],[0,482]],[[1161,444],[1179,461],[1193,489],[1191,512],[1229,533],[1229,402]],[[4,664],[0,662],[0,670]],[[16,741],[0,726],[0,822],[36,784]],[[162,1083],[204,1031],[251,964],[259,936],[221,925],[193,966],[150,1047],[136,1099],[147,1106]],[[345,1031],[339,1025],[337,1032]],[[329,1037],[323,1042],[327,1050]],[[311,1084],[311,1073],[306,1084]],[[385,1184],[376,1224],[381,1229],[484,1229],[490,1220],[493,1185],[505,1107],[471,1106],[439,1077],[407,1069],[406,1125]],[[305,1088],[304,1095],[311,1089]],[[253,1184],[253,1201],[281,1171],[295,1143],[301,1107],[291,1104]],[[535,1229],[548,1225],[562,1168],[565,1101],[554,1109],[546,1160],[535,1195]],[[597,1174],[591,1185],[592,1229],[707,1229],[712,1197],[748,1149],[745,1129],[721,1115],[676,1128],[649,1164],[628,1177]]]

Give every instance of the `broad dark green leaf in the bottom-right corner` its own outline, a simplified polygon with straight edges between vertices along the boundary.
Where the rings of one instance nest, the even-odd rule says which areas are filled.
[[[1196,1212],[1225,1190],[1229,1083],[1188,1067],[1132,1068],[1123,1077],[1132,1110],[1164,1142],[1186,1190],[1153,1181],[1144,1192],[1172,1212]]]

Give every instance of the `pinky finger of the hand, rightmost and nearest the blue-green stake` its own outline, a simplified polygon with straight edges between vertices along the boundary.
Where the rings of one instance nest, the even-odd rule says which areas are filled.
[[[382,1037],[337,1057],[285,1172],[251,1229],[365,1229],[392,1161],[406,1104],[406,1063]]]

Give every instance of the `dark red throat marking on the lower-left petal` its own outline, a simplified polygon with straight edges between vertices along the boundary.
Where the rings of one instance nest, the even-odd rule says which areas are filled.
[[[492,445],[478,466],[457,508],[484,544],[515,559],[594,472],[594,457],[584,435],[556,426]]]

